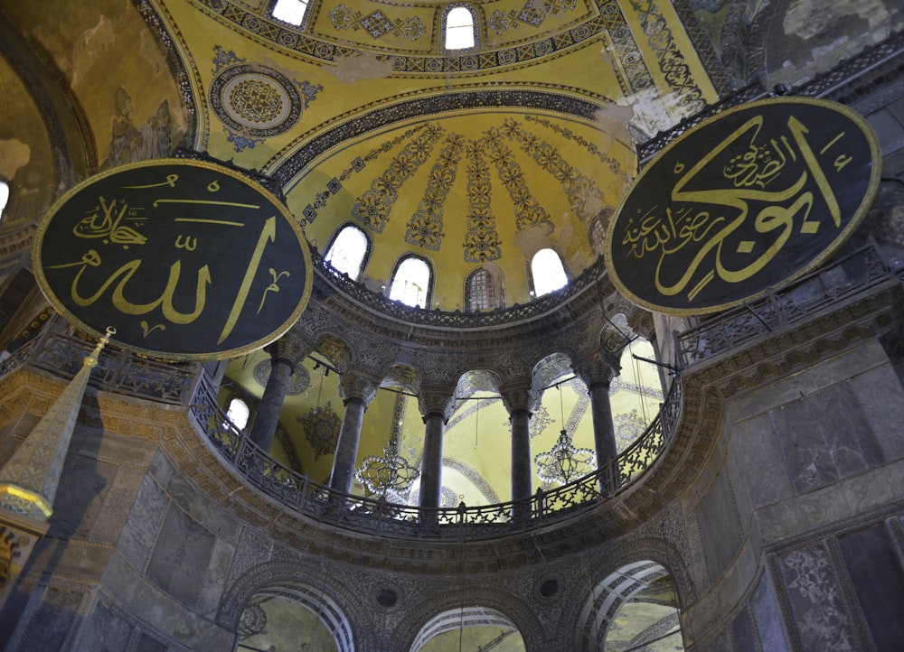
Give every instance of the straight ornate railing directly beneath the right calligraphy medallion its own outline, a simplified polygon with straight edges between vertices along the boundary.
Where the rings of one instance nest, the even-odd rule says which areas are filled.
[[[875,247],[863,247],[784,289],[702,321],[677,336],[682,368],[807,319],[896,275]]]

